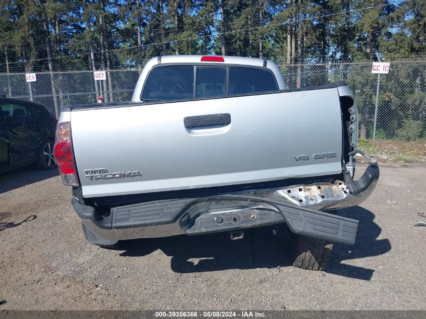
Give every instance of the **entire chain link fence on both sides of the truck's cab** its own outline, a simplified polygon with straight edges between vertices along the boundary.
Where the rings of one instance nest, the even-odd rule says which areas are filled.
[[[362,139],[372,139],[374,133],[378,75],[371,67],[370,62],[280,65],[288,88],[347,82],[358,104]],[[36,77],[36,82],[26,83],[22,73],[0,74],[0,95],[33,100],[57,116],[61,106],[95,103],[100,95],[106,102],[129,101],[139,72],[111,70],[103,81],[95,81],[91,71]],[[377,105],[376,139],[426,141],[426,61],[391,62],[389,74],[380,77]]]

